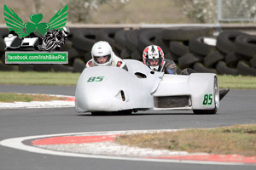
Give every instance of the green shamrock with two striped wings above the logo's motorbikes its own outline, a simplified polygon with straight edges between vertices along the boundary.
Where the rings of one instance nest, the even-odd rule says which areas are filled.
[[[67,5],[60,8],[59,11],[49,20],[48,23],[40,22],[43,20],[43,14],[31,14],[31,22],[23,23],[23,20],[15,14],[12,8],[4,4],[4,20],[9,31],[15,31],[19,37],[26,37],[32,32],[37,37],[44,37],[48,30],[62,30],[67,22]]]

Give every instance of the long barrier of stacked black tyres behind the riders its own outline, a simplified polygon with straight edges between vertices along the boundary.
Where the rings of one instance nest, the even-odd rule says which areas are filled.
[[[71,28],[61,51],[68,52],[67,65],[5,65],[3,37],[0,30],[0,71],[68,71],[81,72],[91,59],[90,49],[97,41],[108,41],[122,59],[143,60],[143,49],[159,45],[166,59],[176,62],[178,71],[192,68],[198,72],[220,75],[256,76],[256,36],[242,31],[221,31],[212,36],[211,27],[141,28]],[[215,32],[216,33],[216,32]]]

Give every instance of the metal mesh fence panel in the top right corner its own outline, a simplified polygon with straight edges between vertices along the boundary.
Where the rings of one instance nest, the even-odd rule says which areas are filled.
[[[256,0],[217,0],[218,22],[256,21]]]

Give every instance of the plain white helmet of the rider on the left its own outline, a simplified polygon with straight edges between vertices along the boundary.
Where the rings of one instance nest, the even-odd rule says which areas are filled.
[[[97,66],[111,65],[113,50],[108,42],[96,42],[91,48],[91,57]],[[106,58],[104,63],[101,63],[99,59]]]

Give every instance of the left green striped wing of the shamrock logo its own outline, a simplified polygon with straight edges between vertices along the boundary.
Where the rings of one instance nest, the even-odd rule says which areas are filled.
[[[8,8],[4,4],[4,20],[6,22],[6,26],[8,26],[9,31],[15,31],[19,37],[26,37],[26,28],[23,24],[23,20],[15,14],[15,11],[12,8]]]

